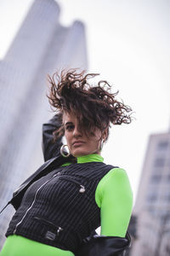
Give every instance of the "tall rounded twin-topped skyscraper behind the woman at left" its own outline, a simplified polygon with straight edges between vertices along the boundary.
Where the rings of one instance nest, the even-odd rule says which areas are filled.
[[[75,21],[59,24],[59,5],[36,0],[0,61],[0,208],[17,187],[42,165],[42,123],[53,115],[47,75],[63,68],[88,68],[85,27]],[[14,214],[8,206],[0,215],[0,247]]]

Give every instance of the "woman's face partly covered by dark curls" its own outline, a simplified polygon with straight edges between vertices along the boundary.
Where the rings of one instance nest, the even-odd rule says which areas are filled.
[[[79,131],[77,117],[71,113],[63,114],[65,138],[71,154],[75,157],[87,154],[99,154],[101,143],[101,131],[95,129],[93,135],[88,137],[83,131]]]

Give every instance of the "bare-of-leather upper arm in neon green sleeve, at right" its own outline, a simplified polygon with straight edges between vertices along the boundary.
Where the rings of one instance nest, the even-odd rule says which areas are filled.
[[[95,200],[101,208],[101,235],[125,237],[133,209],[133,192],[122,168],[114,168],[98,184]]]

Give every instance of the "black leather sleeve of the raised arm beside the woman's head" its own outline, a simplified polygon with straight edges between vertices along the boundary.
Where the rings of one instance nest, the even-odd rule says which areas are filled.
[[[53,157],[59,156],[60,147],[62,146],[62,137],[54,143],[53,132],[59,129],[62,124],[62,119],[59,114],[55,114],[52,119],[42,125],[42,153],[44,161],[47,161]]]

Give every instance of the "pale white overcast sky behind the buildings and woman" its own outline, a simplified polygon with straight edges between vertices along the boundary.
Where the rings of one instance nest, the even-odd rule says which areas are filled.
[[[44,0],[46,1],[46,0]],[[32,0],[1,0],[0,58],[3,59]],[[116,125],[105,162],[127,171],[134,200],[151,133],[170,126],[170,1],[59,0],[60,23],[86,26],[88,71],[100,73],[133,108],[130,125]]]

